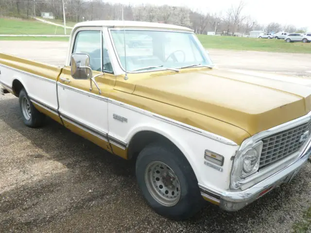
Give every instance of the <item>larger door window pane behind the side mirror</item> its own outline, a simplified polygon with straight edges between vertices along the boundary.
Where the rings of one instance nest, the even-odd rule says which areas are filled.
[[[86,53],[90,57],[92,70],[102,71],[101,31],[80,31],[77,33],[73,53]]]

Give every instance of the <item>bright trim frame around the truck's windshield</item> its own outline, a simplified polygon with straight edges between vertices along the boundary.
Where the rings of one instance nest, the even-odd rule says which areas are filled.
[[[135,30],[135,31],[155,31],[155,32],[188,33],[188,34],[194,34],[194,37],[196,37],[194,32],[181,31],[181,30],[169,30],[169,29],[168,29],[168,30],[165,30],[165,29],[152,29],[152,28],[125,28],[124,30],[127,30],[127,31],[133,31],[133,30]],[[114,43],[114,41],[113,41],[111,31],[123,31],[123,28],[120,28],[120,27],[118,27],[118,28],[108,28],[108,34],[109,34],[109,38],[110,38],[110,41],[111,41],[111,44],[112,44],[113,51],[114,51],[114,53],[115,53],[115,56],[117,57],[117,61],[118,61],[119,67],[121,68],[121,70],[124,71],[124,73],[126,72],[126,73],[128,73],[128,74],[136,74],[136,73],[147,73],[147,72],[155,72],[155,71],[169,71],[169,70],[168,70],[167,68],[165,68],[165,67],[163,67],[163,68],[162,68],[162,67],[159,67],[159,69],[155,69],[155,70],[140,70],[140,71],[128,71],[128,70],[126,70],[126,71],[125,71],[124,67],[123,67],[122,64],[121,64],[121,60],[120,60],[120,58],[119,58],[119,55],[118,55],[118,53],[117,53],[117,49],[116,49],[116,47],[115,47],[115,43]],[[201,42],[200,42],[198,39],[195,39],[195,41],[196,41],[197,43],[199,43],[198,46],[199,46],[199,48],[201,48],[201,46],[202,46],[202,45],[201,45]],[[203,46],[202,46],[202,47],[203,47]],[[206,51],[206,50],[203,50],[203,51]],[[202,51],[201,51],[201,52],[202,52]],[[211,59],[210,59],[208,56],[206,56],[205,53],[203,53],[202,55],[204,56],[204,58],[206,58],[207,61],[209,61],[209,62],[211,63],[209,66],[213,67],[214,65],[213,65]],[[198,68],[198,67],[204,67],[204,66],[197,66],[197,67],[191,67],[191,68]],[[175,67],[174,67],[174,68],[175,68]],[[178,69],[178,67],[177,67],[176,69]],[[175,71],[173,71],[173,72],[175,72]]]

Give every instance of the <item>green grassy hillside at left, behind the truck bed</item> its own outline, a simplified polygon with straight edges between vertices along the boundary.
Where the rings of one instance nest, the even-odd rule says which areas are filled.
[[[66,32],[70,34],[71,29]],[[64,28],[35,20],[0,18],[0,34],[63,35]]]

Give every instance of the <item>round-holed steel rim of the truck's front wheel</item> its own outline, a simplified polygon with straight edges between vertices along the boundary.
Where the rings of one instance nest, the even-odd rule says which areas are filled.
[[[149,193],[162,205],[174,206],[181,197],[180,183],[173,169],[154,161],[146,167],[145,183]]]

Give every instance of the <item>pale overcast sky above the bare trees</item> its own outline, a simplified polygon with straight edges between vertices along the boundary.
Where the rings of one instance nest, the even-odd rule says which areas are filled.
[[[188,6],[192,10],[225,14],[233,4],[238,5],[240,0],[108,0],[124,4],[156,4]],[[267,25],[277,22],[282,25],[293,24],[297,28],[307,27],[311,31],[311,1],[310,0],[244,0],[246,3],[243,15],[250,15],[259,24]]]

